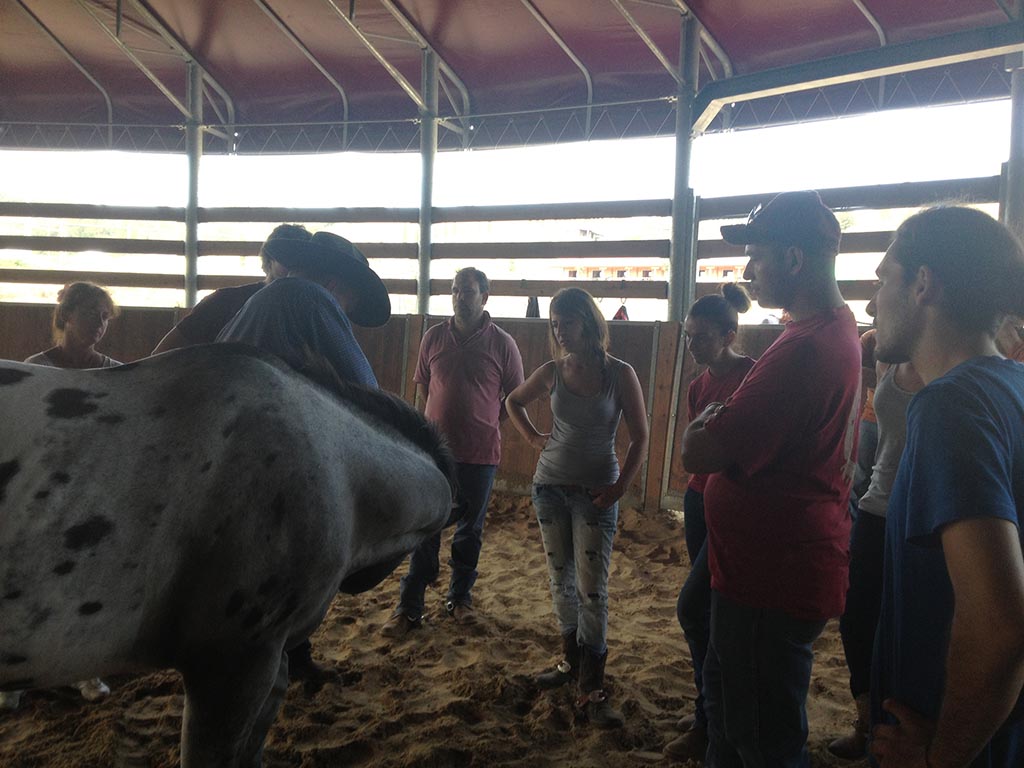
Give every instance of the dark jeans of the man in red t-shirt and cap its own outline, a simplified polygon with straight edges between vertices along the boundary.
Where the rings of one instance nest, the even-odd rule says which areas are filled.
[[[707,768],[807,768],[811,649],[824,622],[750,608],[717,591],[705,662]]]

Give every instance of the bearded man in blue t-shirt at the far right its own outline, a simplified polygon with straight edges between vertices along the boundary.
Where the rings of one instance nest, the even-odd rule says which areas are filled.
[[[886,527],[872,669],[882,768],[1024,765],[1024,366],[995,331],[1024,250],[970,208],[907,219],[878,268],[876,355],[925,388]]]

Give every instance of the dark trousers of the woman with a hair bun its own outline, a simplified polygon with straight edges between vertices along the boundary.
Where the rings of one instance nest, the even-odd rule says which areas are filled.
[[[693,663],[693,683],[697,689],[694,716],[698,727],[708,726],[703,711],[703,664],[711,635],[711,571],[708,569],[708,527],[703,518],[703,494],[686,489],[683,497],[686,552],[690,572],[676,601],[676,617],[686,636]]]

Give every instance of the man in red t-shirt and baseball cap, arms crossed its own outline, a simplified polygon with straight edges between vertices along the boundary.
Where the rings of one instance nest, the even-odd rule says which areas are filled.
[[[784,193],[745,224],[744,279],[793,321],[724,404],[683,434],[705,490],[712,573],[706,764],[806,766],[811,646],[843,612],[861,353],[836,283],[840,225],[814,191]]]

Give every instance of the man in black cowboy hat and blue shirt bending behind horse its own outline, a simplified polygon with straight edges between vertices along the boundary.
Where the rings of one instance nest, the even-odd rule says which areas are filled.
[[[217,341],[252,344],[299,371],[312,352],[341,379],[377,387],[351,324],[383,326],[391,316],[391,300],[367,257],[344,238],[326,231],[309,240],[270,240],[263,250],[285,276],[254,294]]]

